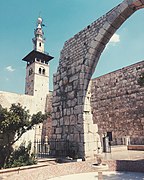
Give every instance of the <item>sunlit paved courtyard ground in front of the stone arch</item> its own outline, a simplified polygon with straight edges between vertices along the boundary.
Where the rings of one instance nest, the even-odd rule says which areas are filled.
[[[144,151],[128,151],[123,146],[112,148],[111,153],[102,153],[102,157],[103,163],[109,166],[108,171],[102,172],[104,179],[144,179]],[[92,167],[95,162],[96,159],[56,163],[54,159],[45,159],[38,163],[39,167],[17,168],[11,172],[0,170],[0,180],[96,180],[98,170]]]

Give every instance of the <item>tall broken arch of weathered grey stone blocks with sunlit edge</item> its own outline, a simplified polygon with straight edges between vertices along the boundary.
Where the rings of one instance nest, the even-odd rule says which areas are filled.
[[[52,144],[53,155],[61,154],[65,141],[79,157],[93,157],[100,148],[98,128],[93,125],[89,83],[106,44],[116,30],[144,0],[124,0],[65,42],[54,75]]]

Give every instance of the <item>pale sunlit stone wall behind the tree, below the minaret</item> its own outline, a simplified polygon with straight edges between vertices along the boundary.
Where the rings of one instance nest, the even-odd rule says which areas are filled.
[[[20,103],[23,107],[29,110],[30,114],[36,114],[38,111],[51,112],[52,108],[52,94],[49,93],[47,98],[41,100],[37,96],[16,94],[11,92],[0,91],[0,104],[4,108],[10,108],[11,104]],[[44,139],[46,136],[50,137],[51,134],[51,118],[48,118],[43,124],[36,125],[32,130],[27,131],[22,137],[15,143],[15,146],[19,146],[22,142],[31,141],[32,144],[35,140]]]

